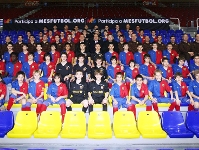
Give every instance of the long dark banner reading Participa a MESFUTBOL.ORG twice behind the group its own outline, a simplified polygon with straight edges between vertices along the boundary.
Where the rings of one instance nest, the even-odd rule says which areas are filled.
[[[139,25],[142,29],[156,29],[156,30],[168,30],[169,19],[165,18],[153,18],[153,19],[136,19],[136,18],[73,18],[73,19],[5,19],[4,30],[43,30],[46,26],[52,29],[53,25],[57,25],[59,30],[64,29],[64,25],[68,25],[69,29],[73,29],[75,25],[79,26],[79,29],[83,29],[87,24],[90,29],[95,25],[99,26],[99,29],[104,29],[105,25],[108,25],[110,29],[114,29],[115,25],[120,25],[121,29],[125,29],[126,24],[130,24],[132,29],[135,29]]]

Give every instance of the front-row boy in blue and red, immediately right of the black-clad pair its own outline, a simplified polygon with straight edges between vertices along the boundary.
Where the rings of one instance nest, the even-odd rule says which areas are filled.
[[[131,103],[128,100],[128,91],[126,88],[126,84],[122,82],[123,75],[121,72],[116,74],[116,83],[113,84],[110,96],[113,101],[113,114],[118,111],[118,109],[122,106],[123,108],[127,108],[128,111],[131,110]]]

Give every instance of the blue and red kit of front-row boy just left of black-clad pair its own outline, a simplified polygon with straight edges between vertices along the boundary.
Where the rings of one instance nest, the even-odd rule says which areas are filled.
[[[48,87],[48,91],[47,94],[54,97],[55,99],[60,97],[60,96],[67,96],[68,95],[68,89],[66,87],[66,85],[64,83],[60,83],[59,86],[57,86],[55,83],[52,83],[49,87]],[[48,98],[47,100],[45,100],[41,106],[41,111],[40,113],[42,113],[43,111],[46,111],[47,107],[49,105],[53,105],[53,104],[59,104],[60,108],[61,108],[61,115],[62,115],[62,122],[64,121],[64,116],[66,114],[66,100],[64,98],[61,98],[59,101],[57,102],[53,102],[51,100],[51,98]]]

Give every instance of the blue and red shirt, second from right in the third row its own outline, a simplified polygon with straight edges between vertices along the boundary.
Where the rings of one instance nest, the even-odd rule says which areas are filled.
[[[162,60],[162,52],[160,50],[154,51],[154,50],[150,50],[148,52],[148,54],[151,56],[151,61],[156,64],[159,65],[161,64],[161,60]]]

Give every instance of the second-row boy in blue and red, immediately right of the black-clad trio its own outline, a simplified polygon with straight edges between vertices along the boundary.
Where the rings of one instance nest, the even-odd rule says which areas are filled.
[[[117,64],[117,57],[111,57],[111,65],[107,68],[107,75],[108,75],[108,86],[109,88],[112,87],[112,84],[115,82],[115,77],[118,72],[123,71],[123,66]]]

